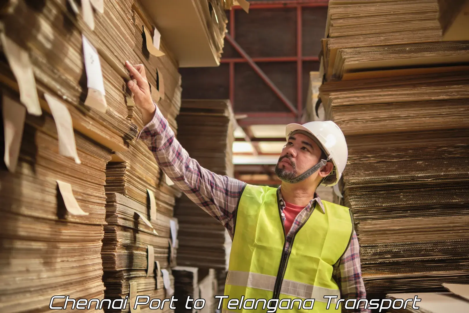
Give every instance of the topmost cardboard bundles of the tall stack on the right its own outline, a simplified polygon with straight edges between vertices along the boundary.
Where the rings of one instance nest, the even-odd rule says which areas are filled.
[[[370,71],[381,76],[393,75],[384,70],[432,72],[439,70],[435,66],[467,63],[468,42],[441,42],[437,2],[331,0],[323,39],[327,80],[357,79]]]

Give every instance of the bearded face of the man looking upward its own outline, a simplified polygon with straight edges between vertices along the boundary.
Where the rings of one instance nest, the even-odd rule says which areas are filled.
[[[292,180],[318,163],[322,155],[319,146],[310,137],[294,134],[280,154],[275,166],[275,174],[280,179]],[[314,179],[318,174],[311,175]]]

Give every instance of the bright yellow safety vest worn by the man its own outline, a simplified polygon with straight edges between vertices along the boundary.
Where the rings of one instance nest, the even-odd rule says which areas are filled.
[[[315,208],[284,251],[277,189],[246,185],[236,213],[222,312],[274,312],[274,307],[276,312],[341,312],[340,305],[335,309],[340,290],[333,265],[348,248],[353,222],[347,207],[323,204],[325,214]]]

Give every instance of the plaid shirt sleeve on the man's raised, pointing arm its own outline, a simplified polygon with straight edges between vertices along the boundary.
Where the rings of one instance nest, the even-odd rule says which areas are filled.
[[[156,106],[156,105],[155,105]],[[200,166],[181,146],[158,106],[153,119],[140,131],[141,138],[165,174],[197,206],[225,226],[231,234],[233,217],[245,183]]]

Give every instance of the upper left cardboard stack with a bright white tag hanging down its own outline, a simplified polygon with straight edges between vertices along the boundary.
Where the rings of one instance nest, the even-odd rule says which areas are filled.
[[[87,27],[81,15],[71,15],[66,0],[45,1],[42,7],[24,0],[11,1],[2,23],[5,36],[30,52],[38,89],[53,90],[70,105],[78,130],[98,142],[123,149],[124,141],[137,134],[136,125],[128,119],[126,98],[130,92],[123,78],[127,71],[113,47],[106,46],[98,33],[106,35],[107,40],[119,40],[116,45],[133,47],[134,42],[122,43],[111,28],[113,24],[106,22],[115,19],[121,8],[115,7],[115,1],[105,2],[105,13],[98,13],[102,27],[97,24],[95,31]]]

